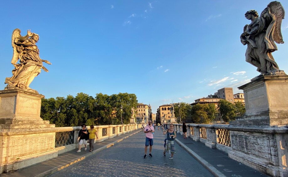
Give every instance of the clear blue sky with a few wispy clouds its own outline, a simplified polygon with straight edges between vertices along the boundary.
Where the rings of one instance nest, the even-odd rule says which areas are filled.
[[[248,10],[271,0],[207,1],[2,1],[0,89],[11,77],[11,35],[19,28],[39,34],[40,57],[49,60],[30,87],[46,98],[83,92],[135,93],[152,106],[192,103],[223,87],[259,75],[245,62],[240,34]],[[281,2],[281,1],[280,1]],[[281,2],[288,9],[288,2]],[[288,21],[282,21],[288,40]],[[287,43],[273,53],[288,72]]]

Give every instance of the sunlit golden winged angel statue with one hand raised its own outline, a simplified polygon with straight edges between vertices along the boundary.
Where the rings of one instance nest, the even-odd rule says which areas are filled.
[[[29,88],[34,77],[39,75],[41,68],[48,72],[43,66],[43,62],[51,65],[47,60],[41,60],[39,57],[39,49],[36,43],[39,35],[27,31],[26,36],[21,36],[20,29],[14,29],[12,34],[13,57],[11,63],[15,69],[12,70],[12,77],[7,77],[5,89],[21,88],[27,91],[37,92]],[[19,64],[17,61],[19,60]],[[38,93],[38,92],[37,92]]]

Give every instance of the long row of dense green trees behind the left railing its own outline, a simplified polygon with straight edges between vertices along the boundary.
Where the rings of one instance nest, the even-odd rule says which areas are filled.
[[[75,97],[43,98],[40,116],[43,120],[49,120],[56,127],[87,126],[120,124],[121,115],[123,123],[130,122],[131,108],[136,108],[137,97],[135,94],[118,93],[111,96],[98,93],[96,97],[85,93],[78,93]],[[123,106],[121,112],[120,106]]]

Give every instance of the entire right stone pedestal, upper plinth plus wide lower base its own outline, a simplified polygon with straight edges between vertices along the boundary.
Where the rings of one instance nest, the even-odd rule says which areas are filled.
[[[246,113],[228,126],[229,157],[271,176],[288,176],[288,76],[260,75],[238,88]]]

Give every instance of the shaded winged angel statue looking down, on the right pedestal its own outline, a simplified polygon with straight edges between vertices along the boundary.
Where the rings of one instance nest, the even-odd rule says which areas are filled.
[[[240,36],[241,43],[247,44],[246,61],[256,66],[261,74],[283,71],[279,69],[272,52],[277,50],[275,42],[284,43],[281,34],[284,16],[284,8],[277,1],[269,3],[260,17],[255,10],[245,13],[245,17],[251,20],[251,23],[244,26],[244,32]]]

